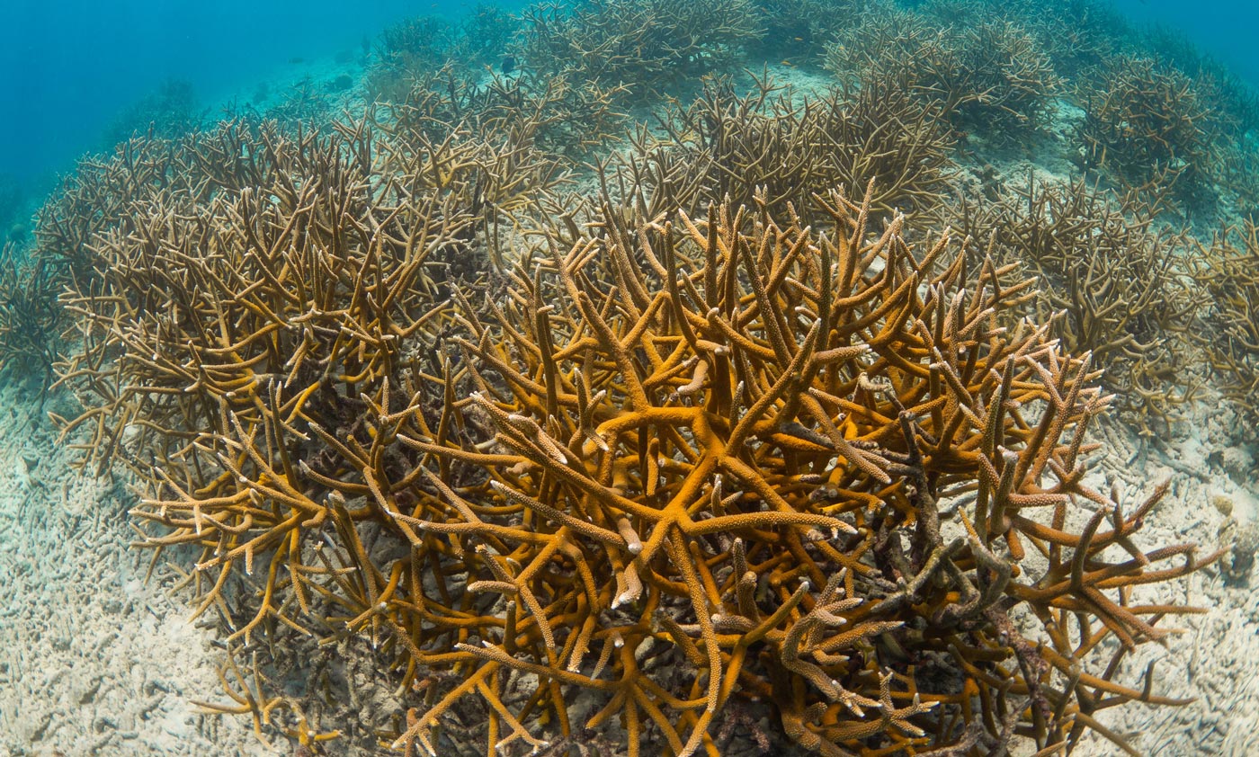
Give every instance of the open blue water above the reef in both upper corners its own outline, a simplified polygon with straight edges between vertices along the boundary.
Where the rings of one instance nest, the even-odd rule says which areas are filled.
[[[681,0],[680,0],[681,1]],[[475,3],[111,0],[0,4],[0,181],[30,190],[104,149],[118,113],[164,82],[206,108],[251,83],[347,50],[408,16],[458,18]],[[514,10],[519,4],[499,4]],[[1133,21],[1178,29],[1259,84],[1259,4],[1121,0]]]

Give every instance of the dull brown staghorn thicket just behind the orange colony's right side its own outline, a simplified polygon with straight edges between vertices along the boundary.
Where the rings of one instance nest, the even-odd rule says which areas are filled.
[[[1192,396],[1188,331],[1205,297],[1190,237],[1158,220],[1157,202],[1083,178],[1054,185],[1029,175],[995,200],[963,200],[954,225],[977,253],[1031,267],[1037,317],[1061,314],[1054,333],[1105,369],[1105,385],[1144,433]]]

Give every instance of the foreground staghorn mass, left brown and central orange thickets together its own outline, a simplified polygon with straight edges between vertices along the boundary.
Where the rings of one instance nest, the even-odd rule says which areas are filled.
[[[1134,547],[1161,490],[1124,515],[1083,485],[1105,398],[1046,327],[1002,325],[1032,295],[1006,267],[915,252],[900,217],[871,234],[842,195],[822,233],[763,200],[692,220],[604,198],[480,310],[423,272],[467,249],[463,195],[365,125],[336,134],[263,130],[266,191],[159,193],[68,302],[71,426],[147,481],[141,545],[200,552],[184,584],[229,642],[370,640],[415,692],[403,749],[457,748],[439,727],[463,712],[491,751],[616,719],[630,753],[690,754],[772,700],[823,754],[973,753],[1119,739],[1097,712],[1171,703],[1149,671],[1113,679],[1166,634],[1144,616],[1187,610],[1126,596],[1214,557]],[[258,665],[205,707],[334,736]]]

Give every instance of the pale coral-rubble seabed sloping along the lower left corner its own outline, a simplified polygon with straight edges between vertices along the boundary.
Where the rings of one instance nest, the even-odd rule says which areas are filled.
[[[282,753],[190,703],[228,702],[215,636],[166,596],[169,569],[144,582],[132,495],[72,455],[30,392],[0,389],[0,757]]]

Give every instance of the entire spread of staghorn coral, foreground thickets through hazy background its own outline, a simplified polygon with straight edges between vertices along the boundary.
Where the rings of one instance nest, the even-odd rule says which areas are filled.
[[[1050,5],[412,21],[360,112],[84,160],[0,358],[223,629],[203,709],[296,753],[1136,753],[1099,713],[1183,703],[1124,661],[1195,612],[1137,589],[1220,554],[1092,432],[1254,407],[1254,222],[1190,227],[1259,198],[1186,193],[1259,108]]]

